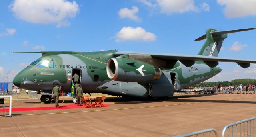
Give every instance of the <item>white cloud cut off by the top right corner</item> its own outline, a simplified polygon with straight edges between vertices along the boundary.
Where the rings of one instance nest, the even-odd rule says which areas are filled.
[[[256,0],[217,0],[220,6],[225,6],[227,18],[237,18],[256,15]]]

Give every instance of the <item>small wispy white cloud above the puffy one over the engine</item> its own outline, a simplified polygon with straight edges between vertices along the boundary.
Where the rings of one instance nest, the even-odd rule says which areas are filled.
[[[133,6],[132,9],[122,8],[118,11],[120,18],[130,18],[135,21],[140,21],[141,19],[136,15],[139,9],[136,6]]]

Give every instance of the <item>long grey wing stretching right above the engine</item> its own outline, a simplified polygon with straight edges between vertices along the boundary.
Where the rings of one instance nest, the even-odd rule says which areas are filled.
[[[169,53],[145,53],[145,52],[130,52],[130,51],[118,51],[115,53],[116,56],[128,55],[129,58],[132,56],[133,59],[136,57],[139,60],[140,57],[152,57],[152,59],[166,61],[166,67],[164,68],[172,68],[173,65],[179,60],[186,67],[191,67],[194,65],[195,61],[204,61],[210,67],[216,67],[218,65],[218,61],[220,62],[236,62],[242,68],[250,67],[250,63],[256,64],[256,60],[246,60],[246,59],[231,59],[231,58],[223,58],[223,57],[210,57],[210,56],[201,56],[201,55],[181,55],[181,54],[169,54]],[[146,63],[148,63],[146,61]],[[168,65],[169,64],[169,65]]]

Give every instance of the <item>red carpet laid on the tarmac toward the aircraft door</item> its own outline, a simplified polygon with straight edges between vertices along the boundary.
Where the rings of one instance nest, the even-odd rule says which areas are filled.
[[[53,104],[54,105],[54,104]],[[60,110],[60,109],[72,109],[72,108],[82,108],[82,106],[77,106],[76,104],[70,104],[70,105],[61,105],[59,104],[59,108],[53,107],[37,107],[37,108],[12,108],[12,112],[18,112],[18,111],[34,111],[34,110]],[[104,107],[108,107],[109,105],[104,105]],[[95,107],[94,107],[95,108]],[[3,112],[4,109],[0,109],[0,112]],[[9,112],[9,108],[5,109],[6,112]]]

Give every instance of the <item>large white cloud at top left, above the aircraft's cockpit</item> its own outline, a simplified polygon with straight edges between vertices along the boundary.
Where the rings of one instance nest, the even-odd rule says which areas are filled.
[[[57,23],[57,27],[70,25],[68,19],[76,17],[79,11],[75,1],[66,0],[14,0],[9,8],[18,19],[30,23]]]

